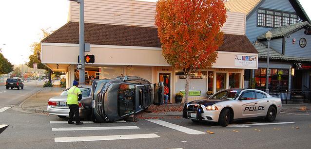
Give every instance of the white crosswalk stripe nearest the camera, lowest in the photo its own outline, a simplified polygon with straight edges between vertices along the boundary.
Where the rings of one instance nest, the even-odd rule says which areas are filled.
[[[159,138],[155,133],[149,134],[127,134],[127,135],[105,135],[105,136],[78,136],[78,137],[56,137],[54,142],[81,142],[81,141],[105,141],[123,139],[145,139]]]

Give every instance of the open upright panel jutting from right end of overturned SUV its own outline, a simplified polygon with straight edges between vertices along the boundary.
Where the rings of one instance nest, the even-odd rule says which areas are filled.
[[[161,105],[163,104],[164,100],[164,84],[163,82],[155,83],[154,84],[154,97],[153,104],[154,105]]]

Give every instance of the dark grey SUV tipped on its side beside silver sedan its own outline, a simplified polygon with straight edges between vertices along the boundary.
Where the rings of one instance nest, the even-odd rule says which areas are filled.
[[[97,123],[134,115],[164,99],[163,82],[151,84],[136,76],[94,80],[92,91],[92,120]]]

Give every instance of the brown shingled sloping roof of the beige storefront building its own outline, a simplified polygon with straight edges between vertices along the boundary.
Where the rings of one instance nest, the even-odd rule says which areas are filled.
[[[161,47],[157,28],[85,23],[85,43],[91,45]],[[219,51],[258,53],[245,35],[224,34]],[[79,23],[68,22],[43,43],[79,43]]]

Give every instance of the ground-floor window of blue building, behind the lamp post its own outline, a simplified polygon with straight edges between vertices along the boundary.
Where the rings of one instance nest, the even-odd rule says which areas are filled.
[[[269,89],[288,89],[289,69],[271,69],[269,76]],[[266,89],[266,68],[255,70],[255,88]]]

